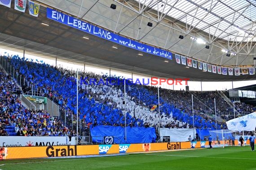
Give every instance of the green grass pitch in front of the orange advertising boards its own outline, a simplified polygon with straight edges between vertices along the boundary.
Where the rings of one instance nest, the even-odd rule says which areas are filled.
[[[1,170],[256,170],[249,146],[133,153],[109,157],[0,161]]]

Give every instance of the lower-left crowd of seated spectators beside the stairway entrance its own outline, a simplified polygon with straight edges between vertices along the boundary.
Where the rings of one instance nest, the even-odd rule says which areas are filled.
[[[0,69],[0,136],[8,136],[5,126],[15,127],[17,136],[68,136],[71,132],[61,120],[45,110],[30,110],[21,104],[18,85]],[[19,89],[18,89],[19,90]]]

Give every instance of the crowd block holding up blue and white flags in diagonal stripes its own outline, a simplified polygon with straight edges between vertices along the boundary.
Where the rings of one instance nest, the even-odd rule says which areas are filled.
[[[26,59],[13,57],[12,65],[33,85],[35,89],[41,91],[43,95],[53,98],[63,109],[67,110],[68,115],[76,114],[76,73],[71,70],[57,68],[48,64],[28,62]],[[85,79],[87,77],[87,79]],[[85,124],[113,125],[120,126],[125,124],[124,109],[126,110],[127,126],[150,126],[159,125],[159,114],[156,110],[150,111],[150,106],[158,103],[156,95],[157,88],[142,85],[126,85],[127,98],[124,101],[124,84],[117,85],[93,85],[89,84],[89,79],[96,81],[102,79],[105,83],[107,79],[122,77],[106,75],[96,75],[92,72],[80,72],[79,80],[79,117],[85,119]],[[87,82],[89,85],[83,85]],[[87,84],[86,83],[86,84]],[[150,89],[151,88],[151,89]],[[163,89],[162,89],[163,90]],[[175,93],[175,92],[174,92]],[[175,104],[170,98],[161,97],[160,102],[160,126],[161,127],[192,127],[193,117],[189,105]],[[183,106],[183,107],[182,107]],[[181,108],[183,110],[181,110]],[[214,121],[202,115],[195,115],[195,127],[215,128]],[[221,124],[218,124],[221,127]]]

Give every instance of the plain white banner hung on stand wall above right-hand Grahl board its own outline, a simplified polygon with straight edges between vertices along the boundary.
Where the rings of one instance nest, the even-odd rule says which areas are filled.
[[[162,136],[170,136],[170,142],[186,142],[189,141],[189,136],[193,139],[195,137],[195,133],[196,131],[194,129],[160,128],[161,141],[163,140]]]

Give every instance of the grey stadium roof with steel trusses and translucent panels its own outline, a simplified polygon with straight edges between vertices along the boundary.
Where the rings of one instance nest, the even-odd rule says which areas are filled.
[[[173,3],[176,1],[177,3]],[[256,43],[254,42],[256,13],[253,12],[256,10],[255,1],[248,0],[241,3],[240,0],[240,5],[238,2],[233,5],[232,3],[228,4],[228,1],[224,0],[200,2],[192,2],[190,0],[159,0],[158,3],[154,0],[142,0],[139,1],[140,3],[135,0],[37,0],[35,2],[43,5],[40,6],[39,17],[32,17],[29,15],[28,10],[25,13],[14,10],[14,4],[12,4],[10,9],[0,5],[0,47],[9,50],[20,50],[21,52],[25,50],[26,54],[57,58],[58,60],[81,65],[89,64],[97,67],[115,68],[121,72],[133,72],[144,76],[188,77],[193,81],[241,81],[256,79],[255,75],[225,76],[202,72],[196,68],[185,68],[184,65],[177,64],[175,59],[168,60],[169,62],[167,63],[164,62],[164,58],[148,53],[142,53],[143,56],[140,56],[138,55],[139,51],[49,20],[46,17],[45,8],[47,6],[58,9],[63,13],[82,18],[84,21],[88,21],[121,36],[210,64],[230,67],[244,65],[255,67],[255,61],[252,59],[256,51]],[[203,5],[205,5],[203,8],[206,8],[210,2],[212,3],[211,13],[202,9]],[[220,3],[222,6],[219,6]],[[116,4],[117,8],[115,10],[111,9],[110,4]],[[242,18],[238,18],[237,22],[235,21],[233,25],[227,25],[227,30],[221,28],[224,23],[228,23],[230,20],[227,19],[228,16],[225,17],[224,14],[217,13],[215,10],[222,8],[223,5],[226,6],[225,4],[232,7],[229,13],[232,13],[232,10],[234,11],[229,16],[238,15],[239,18],[243,16],[244,20],[239,22],[240,24],[245,23],[245,20],[248,20],[247,18],[251,18],[252,21],[247,21],[248,24],[251,23],[252,25],[251,30],[238,23],[238,20],[240,21]],[[157,8],[155,7],[160,6],[162,8],[156,10]],[[190,6],[190,12],[186,11],[188,9],[185,7],[180,8],[181,6]],[[239,6],[239,8],[234,6]],[[249,9],[250,15],[248,15]],[[181,12],[179,15],[177,10]],[[185,10],[185,13],[182,12],[183,10]],[[227,13],[224,7],[223,10]],[[244,10],[243,13],[242,10]],[[169,15],[173,11],[176,11],[177,15],[170,17]],[[184,18],[180,18],[183,15],[182,13],[185,14],[185,18],[187,18],[186,23],[188,24],[183,21]],[[194,13],[193,21],[191,21],[192,13]],[[206,17],[199,17],[200,13],[201,15],[208,14]],[[211,19],[210,16],[214,17]],[[222,19],[218,16],[222,17]],[[210,19],[207,20],[207,17]],[[189,21],[188,18],[190,18]],[[213,21],[217,18],[219,18],[219,22],[214,24]],[[198,21],[198,24],[196,21]],[[201,27],[199,26],[206,24],[204,21],[208,21],[208,28],[200,30]],[[152,22],[153,26],[147,26],[148,22]],[[42,25],[41,23],[49,24],[49,26]],[[220,27],[217,27],[216,31],[214,31],[215,34],[212,34],[211,30],[216,25]],[[242,41],[239,39],[241,31],[236,31],[236,34],[232,32],[230,28],[234,26],[238,26],[245,31],[243,39],[247,38],[247,40],[244,39]],[[219,32],[221,29],[222,34]],[[207,32],[207,30],[210,30],[210,32]],[[248,31],[252,33],[247,35]],[[225,34],[229,38],[233,35],[238,35],[238,38],[226,39]],[[179,39],[179,35],[183,35],[184,39]],[[205,48],[206,44],[196,43],[190,39],[190,36],[201,38],[210,46],[210,49]],[[89,40],[83,37],[88,37]],[[114,49],[112,46],[116,46],[118,49]],[[226,53],[221,52],[221,49],[228,49],[229,52],[232,51],[234,53],[237,52],[238,55],[226,57]]]

